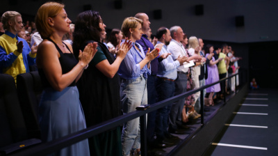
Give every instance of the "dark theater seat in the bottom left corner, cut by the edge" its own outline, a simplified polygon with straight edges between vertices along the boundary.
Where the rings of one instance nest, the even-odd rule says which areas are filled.
[[[28,139],[22,110],[17,97],[15,79],[0,74],[0,154],[40,143],[40,139]]]

